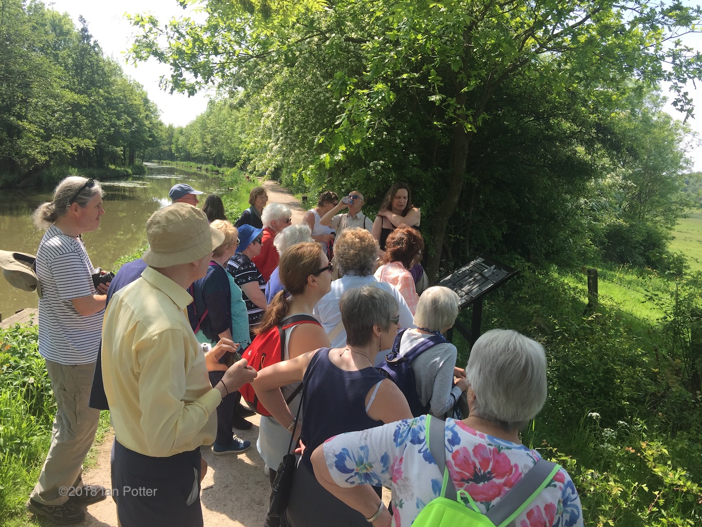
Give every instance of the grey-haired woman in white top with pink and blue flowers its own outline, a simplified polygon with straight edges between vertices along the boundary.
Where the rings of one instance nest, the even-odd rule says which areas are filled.
[[[511,330],[492,330],[472,348],[466,378],[470,417],[446,419],[446,466],[456,490],[465,490],[483,514],[496,505],[540,457],[522,445],[519,429],[546,399],[543,347]],[[314,450],[312,466],[322,486],[374,527],[410,526],[439,496],[444,467],[425,440],[426,417],[340,434]],[[392,487],[394,516],[370,485]],[[573,481],[560,469],[515,519],[517,527],[581,527],[583,514]]]

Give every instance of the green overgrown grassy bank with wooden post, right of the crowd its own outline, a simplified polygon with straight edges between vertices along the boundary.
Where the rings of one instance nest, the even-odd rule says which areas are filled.
[[[585,525],[701,525],[702,275],[605,269],[614,285],[586,313],[584,273],[507,263],[522,272],[486,301],[484,329],[534,337],[549,363],[524,443],[568,469]]]

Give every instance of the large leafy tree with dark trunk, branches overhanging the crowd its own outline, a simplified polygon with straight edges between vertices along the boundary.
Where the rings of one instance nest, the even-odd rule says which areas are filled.
[[[675,103],[689,114],[683,86],[701,73],[699,53],[675,39],[694,30],[700,11],[677,1],[340,0],[254,6],[210,0],[206,10],[202,25],[187,18],[160,25],[136,16],[143,35],[133,48],[135,58],[155,56],[170,64],[172,89],[190,93],[212,83],[265,93],[284,77],[280,70],[305,80],[320,72],[317,84],[331,103],[308,122],[303,145],[313,140],[310,157],[316,164],[299,168],[312,181],[339,164],[335,177],[347,181],[358,157],[366,165],[378,153],[380,160],[392,161],[399,150],[392,141],[406,144],[407,132],[418,131],[423,145],[402,153],[419,157],[424,177],[415,186],[438,198],[425,210],[432,219],[425,235],[438,249],[430,255],[430,273],[439,267],[459,200],[489,183],[489,171],[472,169],[482,155],[474,145],[498,116],[492,103],[505,86],[546,89],[562,100],[578,93],[585,108],[602,112],[617,108],[632,79],[646,86],[665,80],[678,90]],[[303,128],[290,119],[276,123],[284,110],[276,113],[273,103],[268,108],[263,111],[273,127]],[[299,106],[288,111],[305,114]],[[398,116],[405,118],[400,122]],[[272,139],[279,144],[277,134]],[[380,169],[366,183],[385,185],[399,178],[395,170]],[[461,201],[461,208],[468,207],[473,217],[476,203]]]

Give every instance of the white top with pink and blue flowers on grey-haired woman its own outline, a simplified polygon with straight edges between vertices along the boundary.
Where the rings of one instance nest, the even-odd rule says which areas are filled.
[[[343,487],[369,483],[392,487],[395,527],[411,526],[420,510],[441,493],[444,469],[425,441],[426,416],[340,434],[324,443],[324,459]],[[535,450],[446,419],[446,465],[485,513],[522,479],[539,458]],[[515,520],[517,527],[582,527],[583,512],[573,481],[560,469]]]

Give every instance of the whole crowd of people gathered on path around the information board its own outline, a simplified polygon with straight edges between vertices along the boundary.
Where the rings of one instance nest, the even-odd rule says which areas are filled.
[[[358,191],[326,191],[299,225],[263,187],[234,223],[216,195],[199,209],[201,194],[173,186],[173,203],[146,223],[149,249],[112,282],[94,272],[81,239],[105,214],[98,181],[65,178],[34,212],[46,230],[36,263],[39,353],[58,410],[32,513],[78,523],[84,505],[109,494],[123,527],[201,526],[201,447],[249,450],[234,434],[253,426],[239,392],[249,384],[270,413],[256,450],[271,486],[291,444],[300,454],[288,505],[261,518],[266,527],[409,526],[439,496],[444,471],[444,488],[448,481],[485,514],[537,464],[519,430],[545,402],[543,347],[492,330],[465,369],[456,365],[444,334],[458,295],[427,287],[409,186],[393,185],[374,221]],[[281,360],[252,367],[241,353],[274,328]],[[403,360],[409,389],[384,373]],[[468,415],[457,410],[462,396]],[[81,477],[100,409],[115,432],[110,492]],[[445,466],[434,457],[440,447],[428,447],[427,416],[442,419]],[[236,497],[223,506],[236,507]],[[515,524],[583,525],[564,469]]]

